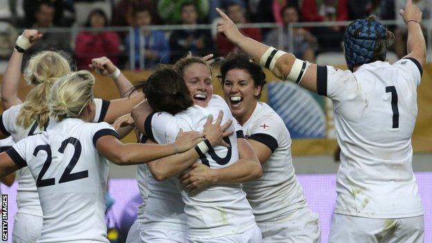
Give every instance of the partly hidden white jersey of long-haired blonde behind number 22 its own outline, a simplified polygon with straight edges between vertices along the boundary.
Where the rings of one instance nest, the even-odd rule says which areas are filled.
[[[98,123],[104,120],[105,114],[109,107],[109,101],[94,99],[96,116],[93,119],[93,123]],[[9,134],[12,136],[15,143],[20,141],[22,138],[39,134],[42,132],[39,129],[37,123],[33,123],[30,127],[24,128],[17,124],[17,117],[21,105],[15,105],[10,107],[1,114],[0,117],[0,129],[3,134]],[[46,126],[44,127],[46,129]],[[17,190],[17,213],[26,213],[29,215],[36,215],[42,217],[42,210],[39,204],[39,197],[37,196],[37,189],[35,186],[35,180],[28,168],[24,167],[19,170],[19,181]]]

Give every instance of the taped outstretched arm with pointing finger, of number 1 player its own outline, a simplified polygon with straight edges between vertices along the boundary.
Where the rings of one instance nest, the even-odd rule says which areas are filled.
[[[275,48],[262,44],[240,33],[234,22],[222,10],[216,8],[222,20],[217,22],[217,32],[225,35],[233,44],[253,57],[255,62],[269,69],[281,80],[299,83],[300,86],[315,92],[316,64],[309,64],[298,60],[292,53],[278,51]]]

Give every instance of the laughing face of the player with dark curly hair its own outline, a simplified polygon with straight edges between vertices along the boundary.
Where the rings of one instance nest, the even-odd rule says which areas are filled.
[[[251,117],[260,96],[261,86],[244,69],[231,69],[225,75],[224,96],[233,116],[244,124]]]

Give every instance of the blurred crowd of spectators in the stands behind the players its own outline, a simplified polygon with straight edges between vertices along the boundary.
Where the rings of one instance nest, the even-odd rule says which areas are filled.
[[[314,62],[318,53],[341,51],[343,26],[294,28],[303,21],[349,21],[377,16],[397,20],[388,26],[395,33],[393,50],[399,57],[406,53],[406,27],[399,16],[405,0],[3,0],[0,1],[0,59],[8,60],[22,28],[44,32],[42,40],[26,52],[25,60],[42,49],[54,48],[69,53],[78,69],[88,69],[90,60],[105,55],[122,68],[152,68],[172,63],[188,51],[194,55],[224,56],[238,51],[211,29],[196,24],[215,24],[222,8],[236,24],[277,23],[281,28],[242,28],[242,33],[282,50],[293,37],[294,54]],[[413,0],[431,17],[432,0]],[[161,31],[142,27],[152,25],[189,25],[188,28]],[[116,28],[132,27],[133,31]],[[71,31],[69,27],[93,29]],[[104,29],[105,28],[105,29]],[[77,28],[75,28],[77,29]],[[79,30],[79,28],[78,28]],[[132,48],[132,49],[131,49]],[[139,55],[143,53],[143,55]]]

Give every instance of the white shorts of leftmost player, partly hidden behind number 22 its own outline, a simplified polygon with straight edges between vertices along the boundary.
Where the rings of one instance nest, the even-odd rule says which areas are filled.
[[[12,230],[13,243],[35,243],[42,232],[44,220],[40,216],[17,213]]]

